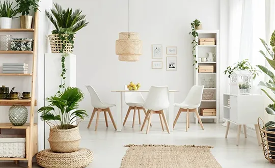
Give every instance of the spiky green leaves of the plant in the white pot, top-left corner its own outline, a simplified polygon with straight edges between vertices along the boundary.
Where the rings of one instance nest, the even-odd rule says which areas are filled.
[[[12,8],[13,3],[4,1],[3,4],[0,1],[0,17],[10,17],[13,18],[17,15],[18,9],[16,7]]]

